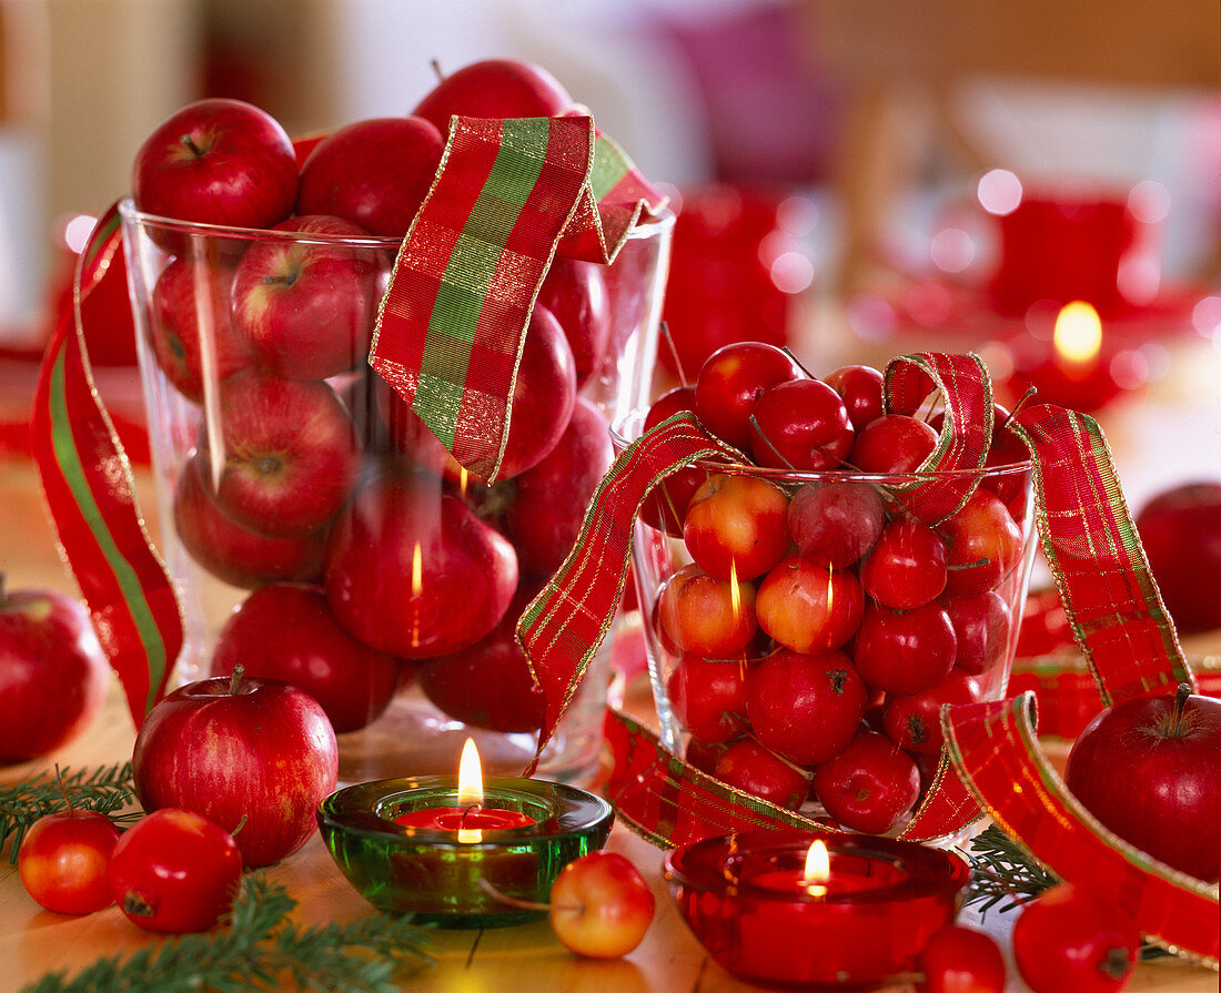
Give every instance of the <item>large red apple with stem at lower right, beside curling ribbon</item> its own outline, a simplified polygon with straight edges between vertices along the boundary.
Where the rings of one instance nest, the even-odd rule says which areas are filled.
[[[1129,697],[1106,708],[1068,753],[1065,783],[1106,827],[1205,882],[1221,871],[1221,700]]]

